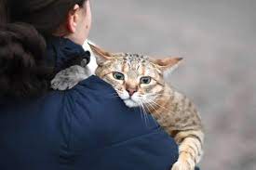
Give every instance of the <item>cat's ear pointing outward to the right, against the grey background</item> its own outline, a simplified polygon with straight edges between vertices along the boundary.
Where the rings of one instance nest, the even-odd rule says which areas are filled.
[[[167,76],[173,72],[181,63],[182,58],[154,59],[153,62]]]

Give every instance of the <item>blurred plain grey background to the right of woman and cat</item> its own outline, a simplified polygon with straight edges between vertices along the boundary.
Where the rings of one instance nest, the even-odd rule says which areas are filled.
[[[169,78],[206,129],[202,170],[256,169],[256,0],[91,0],[90,39],[183,57]]]

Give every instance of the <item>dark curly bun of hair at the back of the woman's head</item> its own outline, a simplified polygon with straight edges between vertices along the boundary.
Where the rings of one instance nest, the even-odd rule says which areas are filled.
[[[0,26],[1,96],[24,97],[40,91],[45,49],[44,38],[32,25]]]

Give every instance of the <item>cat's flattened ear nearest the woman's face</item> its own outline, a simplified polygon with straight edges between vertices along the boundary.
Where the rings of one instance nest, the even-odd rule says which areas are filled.
[[[91,43],[88,43],[88,45],[92,52],[95,54],[96,62],[98,65],[103,64],[106,60],[112,59],[113,54],[105,51],[100,46],[96,46]]]

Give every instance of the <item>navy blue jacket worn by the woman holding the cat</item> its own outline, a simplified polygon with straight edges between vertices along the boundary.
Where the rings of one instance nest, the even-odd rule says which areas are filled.
[[[55,64],[73,44],[60,41],[68,43],[48,43]],[[97,76],[40,98],[0,99],[0,170],[168,170],[177,158],[154,119]]]

